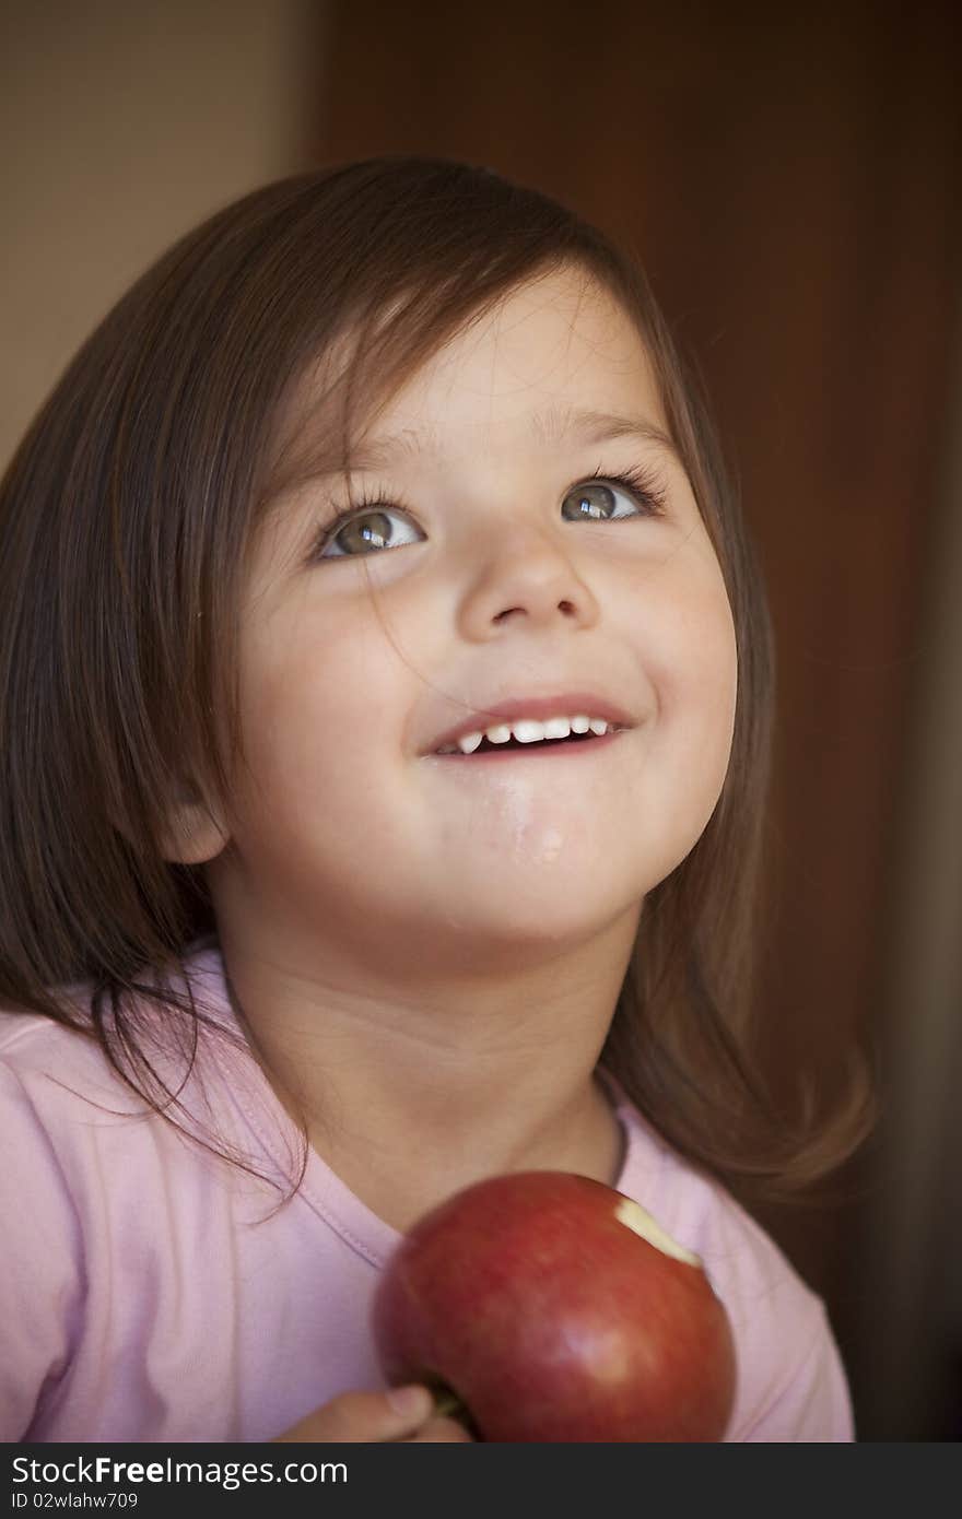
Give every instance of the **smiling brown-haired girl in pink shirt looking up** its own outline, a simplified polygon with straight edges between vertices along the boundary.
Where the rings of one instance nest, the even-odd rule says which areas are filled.
[[[3,1438],[467,1438],[372,1290],[547,1168],[702,1256],[726,1438],[851,1440],[736,1192],[866,1104],[752,1074],[769,623],[634,263],[457,163],[267,185],[79,352],[0,567]]]

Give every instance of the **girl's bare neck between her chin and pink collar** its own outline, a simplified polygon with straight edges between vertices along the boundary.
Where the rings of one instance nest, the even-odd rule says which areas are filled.
[[[331,948],[220,943],[251,1045],[312,1147],[397,1229],[503,1171],[614,1183],[622,1135],[596,1075],[637,913],[497,981],[386,996]],[[324,969],[322,969],[324,968]]]

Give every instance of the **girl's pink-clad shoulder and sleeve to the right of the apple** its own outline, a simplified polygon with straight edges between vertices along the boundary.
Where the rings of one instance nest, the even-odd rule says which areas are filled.
[[[825,1303],[714,1177],[682,1159],[631,1104],[620,1189],[701,1256],[739,1358],[728,1440],[848,1442],[851,1405]]]

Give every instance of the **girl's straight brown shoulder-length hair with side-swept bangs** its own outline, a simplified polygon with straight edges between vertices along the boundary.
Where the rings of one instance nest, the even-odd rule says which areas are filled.
[[[166,863],[160,838],[184,770],[201,796],[225,794],[242,758],[245,567],[278,469],[289,483],[304,463],[278,457],[281,407],[347,343],[331,395],[348,444],[357,396],[369,416],[465,322],[558,267],[599,281],[638,327],[739,652],[720,801],[646,899],[602,1059],[688,1159],[746,1198],[786,1195],[851,1153],[871,1101],[856,1069],[831,1123],[789,1121],[751,1053],[774,684],[755,559],[637,261],[486,169],[389,155],[226,207],[134,284],[23,439],[0,491],[0,998],[96,1037],[176,1121],[138,995],[172,1010],[190,1066],[202,1013],[167,978],[216,924],[204,870]],[[85,1016],[56,990],[81,981]]]

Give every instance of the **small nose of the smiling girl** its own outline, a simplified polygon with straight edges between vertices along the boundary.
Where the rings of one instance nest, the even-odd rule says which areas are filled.
[[[477,544],[474,545],[477,554]],[[485,643],[509,623],[591,627],[599,605],[564,544],[544,532],[515,529],[485,544],[460,608],[465,638]]]

